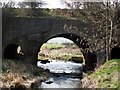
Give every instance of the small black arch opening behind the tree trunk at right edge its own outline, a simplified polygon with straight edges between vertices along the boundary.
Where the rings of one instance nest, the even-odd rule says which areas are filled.
[[[119,47],[112,48],[111,59],[120,59],[120,48]]]

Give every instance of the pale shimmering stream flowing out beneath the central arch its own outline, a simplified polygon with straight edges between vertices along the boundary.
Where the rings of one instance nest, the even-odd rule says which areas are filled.
[[[49,60],[47,63],[39,61],[37,66],[49,71],[48,80],[42,82],[40,88],[80,88],[81,63]]]

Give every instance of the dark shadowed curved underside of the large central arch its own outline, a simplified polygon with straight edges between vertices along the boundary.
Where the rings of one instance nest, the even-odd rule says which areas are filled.
[[[82,37],[78,36],[77,34],[64,33],[64,34],[57,34],[57,35],[53,35],[50,37],[46,37],[44,42],[39,46],[37,54],[40,51],[40,48],[44,43],[46,43],[48,40],[50,40],[52,38],[56,38],[56,37],[63,37],[63,38],[67,38],[67,39],[73,41],[80,48],[80,50],[84,56],[85,69],[86,70],[94,70],[94,68],[96,67],[96,63],[97,63],[97,56],[96,56],[95,52],[90,49],[88,42],[86,40],[84,40]],[[36,57],[37,57],[37,55],[36,55]]]

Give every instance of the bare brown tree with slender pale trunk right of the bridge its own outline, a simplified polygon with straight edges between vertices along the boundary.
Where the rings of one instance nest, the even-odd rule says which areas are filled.
[[[89,22],[106,33],[106,60],[111,59],[111,48],[117,41],[114,36],[120,31],[120,2],[76,2],[73,0],[62,0],[71,10],[71,17],[79,18],[83,22]]]

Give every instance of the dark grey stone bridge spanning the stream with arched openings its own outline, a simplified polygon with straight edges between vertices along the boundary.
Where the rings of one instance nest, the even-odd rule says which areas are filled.
[[[88,23],[73,19],[25,17],[3,17],[2,21],[3,58],[15,59],[17,47],[21,46],[23,61],[36,64],[43,43],[54,37],[64,37],[80,47],[87,69],[93,69],[96,62],[106,59],[106,34]],[[120,33],[114,36],[116,41],[111,55],[120,58],[120,52],[116,53],[120,51]]]

